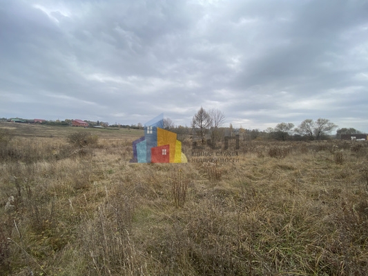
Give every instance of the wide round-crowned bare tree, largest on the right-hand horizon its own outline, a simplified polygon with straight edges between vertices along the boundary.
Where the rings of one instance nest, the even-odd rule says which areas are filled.
[[[305,119],[294,131],[299,135],[308,137],[310,140],[320,140],[329,135],[337,127],[329,119],[319,118],[317,121]]]

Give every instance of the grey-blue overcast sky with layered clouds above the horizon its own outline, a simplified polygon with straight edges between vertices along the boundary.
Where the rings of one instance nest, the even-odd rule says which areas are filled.
[[[0,0],[0,117],[368,132],[367,0]]]

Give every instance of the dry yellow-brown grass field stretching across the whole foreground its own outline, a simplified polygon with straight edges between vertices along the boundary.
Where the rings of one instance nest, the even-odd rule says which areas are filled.
[[[0,124],[0,275],[367,275],[367,141],[130,164],[142,135]]]

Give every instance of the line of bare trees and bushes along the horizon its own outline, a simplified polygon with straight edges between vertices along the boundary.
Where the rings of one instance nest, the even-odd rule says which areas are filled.
[[[197,140],[202,144],[210,141],[211,143],[216,143],[223,139],[225,135],[240,135],[244,140],[254,140],[254,139],[275,139],[280,141],[301,141],[301,140],[322,140],[329,139],[331,137],[331,132],[338,128],[336,124],[333,124],[329,119],[319,118],[316,121],[313,119],[305,119],[298,125],[294,126],[293,123],[282,122],[277,124],[275,128],[266,128],[265,130],[259,129],[246,129],[246,128],[233,128],[231,124],[228,127],[224,126],[225,123],[224,112],[212,108],[210,110],[205,110],[201,108],[193,115],[191,121],[191,126],[175,126],[172,119],[166,117],[164,118],[163,128],[166,130],[171,130],[179,135],[194,135]],[[7,118],[0,118],[0,121],[9,121]],[[30,122],[32,120],[26,120]],[[104,121],[89,121],[84,120],[88,123],[88,126],[104,126],[110,128],[128,128],[128,129],[140,129],[142,130],[144,126],[141,123],[138,124],[108,124]],[[41,124],[50,126],[70,126],[72,124],[72,119],[61,120],[46,120]],[[355,128],[338,128],[336,130],[336,139],[340,139],[341,135],[354,135],[361,134],[359,130]]]

